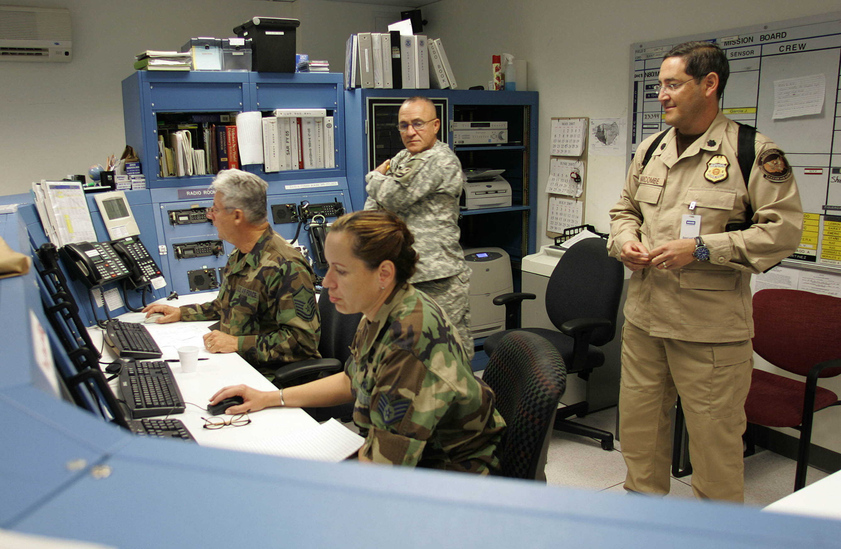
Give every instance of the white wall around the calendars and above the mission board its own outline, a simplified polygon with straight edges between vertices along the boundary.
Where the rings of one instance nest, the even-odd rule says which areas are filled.
[[[832,13],[837,0],[764,0],[703,3],[665,0],[441,0],[422,8],[424,29],[447,48],[459,88],[487,85],[490,56],[510,53],[528,61],[529,89],[540,92],[537,246],[546,237],[546,136],[554,116],[627,118],[630,45]],[[774,138],[774,136],[771,136]],[[600,232],[625,181],[624,157],[590,157],[584,219]],[[777,371],[759,359],[764,370]],[[821,381],[841,394],[841,379]],[[841,452],[841,407],[816,414],[812,441]],[[793,429],[782,429],[797,436]]]

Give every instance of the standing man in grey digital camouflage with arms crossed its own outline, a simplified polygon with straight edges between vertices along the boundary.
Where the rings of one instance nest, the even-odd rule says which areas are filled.
[[[365,209],[394,211],[409,226],[420,255],[410,282],[447,313],[472,360],[470,268],[458,244],[462,164],[438,141],[440,128],[430,99],[416,96],[403,102],[398,129],[406,148],[365,176]]]

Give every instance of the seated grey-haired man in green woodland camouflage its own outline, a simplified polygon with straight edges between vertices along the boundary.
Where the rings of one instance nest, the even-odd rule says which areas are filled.
[[[239,353],[270,381],[280,365],[320,358],[315,274],[298,250],[267,221],[268,184],[252,173],[223,170],[210,186],[208,211],[219,237],[235,250],[225,265],[219,296],[204,304],[150,305],[157,322],[220,320],[204,336],[211,353]]]

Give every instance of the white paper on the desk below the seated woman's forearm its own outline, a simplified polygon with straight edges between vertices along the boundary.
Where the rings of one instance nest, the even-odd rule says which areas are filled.
[[[247,426],[240,429],[247,429]],[[202,444],[269,456],[338,463],[359,450],[363,442],[365,439],[340,424],[336,418],[331,418],[312,429],[281,434],[268,439],[220,444],[203,440]]]

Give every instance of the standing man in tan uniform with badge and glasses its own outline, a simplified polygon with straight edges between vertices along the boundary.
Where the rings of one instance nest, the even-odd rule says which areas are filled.
[[[745,181],[739,125],[718,109],[729,76],[715,44],[665,56],[672,129],[643,141],[611,209],[611,256],[633,271],[625,304],[619,432],[625,488],[669,493],[669,410],[680,396],[697,498],[744,499],[744,401],[753,368],[750,275],[795,251],[803,214],[791,166],[757,133]],[[742,130],[744,131],[744,130]]]

